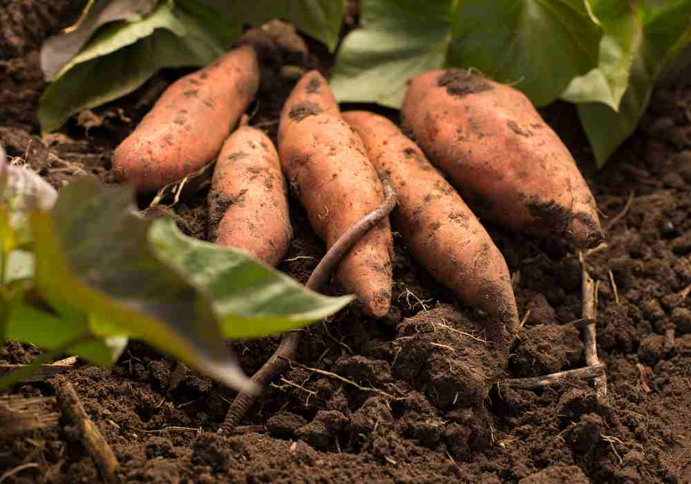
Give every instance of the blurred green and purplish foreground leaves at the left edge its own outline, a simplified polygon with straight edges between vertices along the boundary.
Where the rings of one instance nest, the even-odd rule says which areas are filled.
[[[296,329],[352,299],[318,295],[248,254],[182,235],[171,220],[144,220],[132,201],[129,188],[77,180],[53,208],[28,212],[30,250],[3,225],[4,336],[98,364],[138,338],[252,391],[225,339]]]

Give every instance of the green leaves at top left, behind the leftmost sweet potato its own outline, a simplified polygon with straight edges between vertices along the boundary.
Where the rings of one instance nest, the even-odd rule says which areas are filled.
[[[162,68],[206,66],[229,48],[243,24],[285,18],[333,49],[343,10],[342,0],[159,0],[150,12],[133,10],[131,0],[109,1],[115,6],[112,15],[85,21],[44,44],[42,59],[57,59],[44,60],[50,78],[64,64],[64,51],[77,47],[78,53],[41,96],[43,133],[58,129],[74,113],[131,93]],[[82,30],[91,37],[86,44]]]

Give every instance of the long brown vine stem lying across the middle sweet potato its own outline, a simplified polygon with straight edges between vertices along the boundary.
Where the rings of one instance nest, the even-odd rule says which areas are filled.
[[[341,260],[345,257],[345,254],[348,253],[352,245],[359,241],[372,227],[377,225],[379,221],[388,216],[396,206],[396,192],[388,180],[384,180],[383,184],[384,203],[382,203],[377,210],[373,210],[366,216],[363,216],[363,218],[341,235],[341,238],[332,245],[328,252],[326,252],[326,255],[321,259],[319,265],[316,266],[312,275],[310,275],[310,279],[305,285],[307,288],[314,291],[321,290],[321,288],[328,283],[331,274],[339,263],[341,263]],[[287,369],[288,362],[295,358],[295,352],[300,342],[300,334],[299,331],[292,331],[283,335],[272,357],[270,357],[269,361],[267,361],[259,371],[254,373],[252,377],[252,381],[255,382],[258,387],[266,387],[278,373],[282,373]],[[223,424],[218,428],[218,433],[231,434],[234,427],[238,425],[247,411],[249,411],[249,407],[252,407],[254,400],[256,400],[256,395],[244,392],[238,393],[238,396],[236,396],[228,409]]]

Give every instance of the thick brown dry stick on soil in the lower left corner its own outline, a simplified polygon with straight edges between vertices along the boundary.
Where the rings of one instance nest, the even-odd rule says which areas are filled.
[[[117,458],[115,458],[111,446],[108,445],[108,441],[91,421],[91,418],[86,415],[75,387],[62,375],[55,377],[54,382],[55,395],[67,425],[73,425],[79,431],[82,445],[93,459],[103,480],[107,483],[117,483],[118,479],[115,475]]]

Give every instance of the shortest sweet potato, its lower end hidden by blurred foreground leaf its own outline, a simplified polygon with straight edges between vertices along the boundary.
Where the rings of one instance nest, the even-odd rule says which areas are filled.
[[[209,190],[209,238],[277,266],[292,229],[287,186],[274,144],[240,127],[223,145]]]

